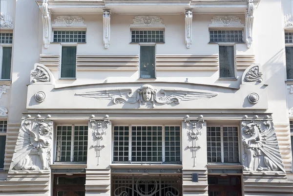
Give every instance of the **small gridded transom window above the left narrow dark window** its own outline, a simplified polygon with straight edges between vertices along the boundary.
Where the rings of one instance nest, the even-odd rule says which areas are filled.
[[[54,31],[53,42],[85,43],[85,31]]]

